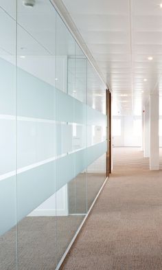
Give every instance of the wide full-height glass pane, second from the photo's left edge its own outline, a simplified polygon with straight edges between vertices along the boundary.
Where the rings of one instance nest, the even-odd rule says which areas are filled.
[[[52,269],[57,265],[56,11],[49,1],[33,9],[18,1],[17,8],[18,269]]]

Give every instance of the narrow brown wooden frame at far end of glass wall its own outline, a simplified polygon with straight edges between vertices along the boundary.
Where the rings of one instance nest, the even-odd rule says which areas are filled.
[[[106,115],[107,115],[107,152],[106,152],[106,177],[111,173],[111,91],[106,89]]]

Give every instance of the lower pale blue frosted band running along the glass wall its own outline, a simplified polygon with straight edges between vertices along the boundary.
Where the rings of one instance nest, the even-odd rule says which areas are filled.
[[[36,168],[27,168],[25,172],[19,173],[16,177],[18,221],[21,221],[27,214],[30,214],[40,203],[43,203],[49,196],[54,194],[56,190],[60,190],[60,188],[71,181],[71,179],[77,177],[80,172],[84,171],[87,166],[92,164],[95,159],[105,152],[106,142],[102,142],[76,153],[66,155],[60,159],[56,159],[56,161],[37,166]],[[12,185],[14,185],[14,177],[12,177],[10,181],[12,181]],[[0,181],[2,194],[6,194],[6,187],[11,188],[10,181],[9,179]],[[15,190],[12,188],[12,191]],[[12,193],[14,194],[14,192]],[[5,218],[5,213],[8,211],[8,204],[6,208],[4,204],[1,205],[3,205],[1,216]],[[13,218],[8,221],[8,227],[12,227],[15,224]],[[6,231],[8,227],[6,226]]]

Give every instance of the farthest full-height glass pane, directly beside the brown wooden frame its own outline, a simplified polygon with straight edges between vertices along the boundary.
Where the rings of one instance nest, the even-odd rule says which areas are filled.
[[[87,208],[91,207],[106,179],[106,93],[102,80],[88,62],[87,65],[87,147],[102,155],[89,163],[86,169]]]

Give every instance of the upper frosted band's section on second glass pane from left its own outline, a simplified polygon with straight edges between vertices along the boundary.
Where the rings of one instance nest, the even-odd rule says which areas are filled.
[[[19,116],[54,120],[54,97],[55,89],[52,85],[22,69],[17,70],[17,114]]]

